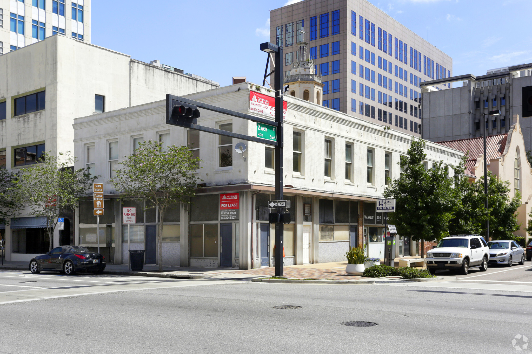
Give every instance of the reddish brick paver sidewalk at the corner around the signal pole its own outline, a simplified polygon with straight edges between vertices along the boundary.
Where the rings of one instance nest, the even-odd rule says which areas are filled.
[[[275,267],[264,267],[250,270],[234,271],[231,274],[256,274],[256,275],[275,275]],[[315,268],[296,268],[285,266],[284,276],[288,278],[305,278],[305,279],[331,279],[331,280],[354,280],[365,279],[356,275],[347,275],[345,270],[335,269],[315,269]]]

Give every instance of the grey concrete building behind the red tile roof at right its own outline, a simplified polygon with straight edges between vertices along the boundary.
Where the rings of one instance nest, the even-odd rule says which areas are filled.
[[[433,86],[457,87],[445,92]],[[448,141],[483,135],[505,134],[520,117],[520,127],[527,151],[532,150],[532,63],[488,70],[486,75],[453,76],[421,84],[423,139]],[[500,116],[487,116],[501,110]],[[487,123],[484,123],[486,114]]]

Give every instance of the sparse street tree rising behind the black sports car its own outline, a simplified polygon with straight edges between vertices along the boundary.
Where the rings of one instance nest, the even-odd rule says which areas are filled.
[[[60,152],[59,156],[44,152],[35,165],[21,168],[20,178],[15,180],[24,205],[36,217],[46,217],[50,250],[60,211],[76,209],[80,197],[87,195],[99,177],[90,175],[87,169],[74,170],[76,161],[70,151]]]

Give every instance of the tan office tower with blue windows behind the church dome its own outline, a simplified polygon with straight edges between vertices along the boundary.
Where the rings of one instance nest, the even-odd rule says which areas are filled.
[[[419,84],[450,77],[450,56],[365,0],[304,0],[271,10],[270,41],[284,49],[285,76],[303,36],[324,85],[317,103],[421,135]]]

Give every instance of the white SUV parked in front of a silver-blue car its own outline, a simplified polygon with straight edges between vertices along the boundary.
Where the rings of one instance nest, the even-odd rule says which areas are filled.
[[[467,274],[470,268],[488,269],[489,248],[480,235],[452,235],[442,238],[427,252],[425,264],[430,274],[437,270],[460,270]]]

